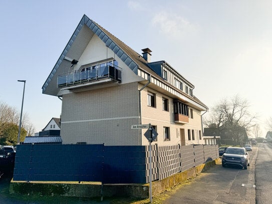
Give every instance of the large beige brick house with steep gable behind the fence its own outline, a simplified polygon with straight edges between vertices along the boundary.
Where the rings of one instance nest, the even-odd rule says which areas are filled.
[[[83,16],[43,93],[62,97],[63,144],[147,145],[149,124],[158,145],[204,144],[194,86],[165,61],[151,62]]]

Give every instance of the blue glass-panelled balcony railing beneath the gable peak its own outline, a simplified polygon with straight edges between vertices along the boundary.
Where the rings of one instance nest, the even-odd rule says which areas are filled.
[[[90,84],[90,82],[103,79],[111,79],[112,81],[121,82],[120,68],[110,63],[104,63],[64,73],[58,76],[58,88],[84,83]]]

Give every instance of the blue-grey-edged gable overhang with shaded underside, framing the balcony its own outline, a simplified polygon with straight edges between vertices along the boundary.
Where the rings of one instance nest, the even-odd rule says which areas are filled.
[[[60,88],[57,87],[58,75],[64,73],[65,69],[71,65],[69,59],[79,60],[94,34],[97,35],[135,74],[137,74],[138,65],[132,58],[129,57],[104,31],[102,31],[95,22],[84,15],[44,83],[42,87],[44,94],[53,96],[58,95],[60,91]]]

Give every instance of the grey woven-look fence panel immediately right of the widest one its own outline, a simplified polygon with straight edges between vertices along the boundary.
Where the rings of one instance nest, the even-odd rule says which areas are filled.
[[[180,147],[181,171],[188,170],[195,166],[194,145]]]

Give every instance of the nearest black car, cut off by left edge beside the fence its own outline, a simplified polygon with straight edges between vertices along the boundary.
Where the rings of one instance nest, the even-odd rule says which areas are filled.
[[[14,170],[15,155],[12,152],[7,152],[0,145],[0,177],[4,173],[12,173]]]

